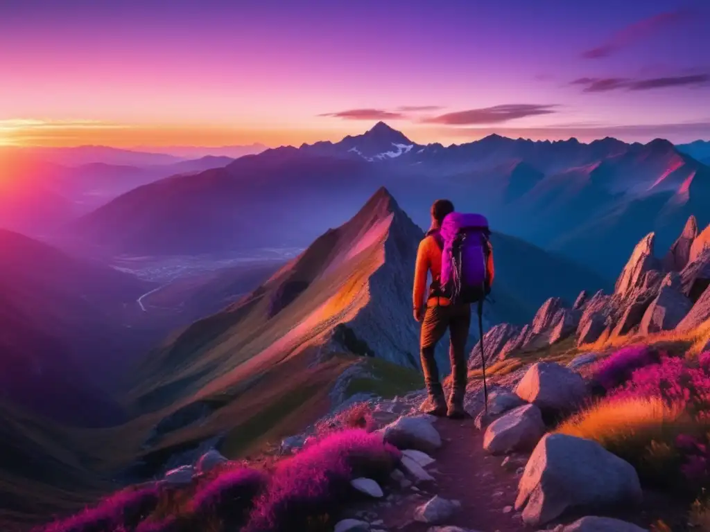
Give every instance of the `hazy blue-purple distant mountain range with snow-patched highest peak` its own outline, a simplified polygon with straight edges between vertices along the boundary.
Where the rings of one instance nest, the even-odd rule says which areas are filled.
[[[486,214],[494,229],[610,278],[648,228],[670,245],[693,212],[705,213],[701,225],[710,221],[699,209],[710,202],[709,167],[665,140],[583,144],[491,135],[444,148],[417,145],[378,123],[339,143],[267,150],[140,187],[73,231],[119,253],[305,245],[382,185],[421,227],[433,199],[450,197],[459,211]]]

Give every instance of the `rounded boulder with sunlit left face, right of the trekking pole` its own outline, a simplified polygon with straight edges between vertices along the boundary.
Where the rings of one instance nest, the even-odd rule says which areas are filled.
[[[542,411],[570,411],[587,396],[579,374],[555,362],[536,362],[515,387],[515,394]]]

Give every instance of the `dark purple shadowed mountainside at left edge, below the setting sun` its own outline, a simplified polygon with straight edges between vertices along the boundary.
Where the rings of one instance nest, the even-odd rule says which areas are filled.
[[[149,285],[0,231],[0,394],[53,419],[121,419],[105,385],[140,334],[126,328]]]

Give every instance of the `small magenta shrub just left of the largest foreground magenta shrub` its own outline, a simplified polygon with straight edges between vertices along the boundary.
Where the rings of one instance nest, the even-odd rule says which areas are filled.
[[[195,493],[192,513],[197,519],[200,516],[217,516],[225,526],[239,529],[244,525],[254,499],[267,482],[265,473],[249,467],[225,470]]]

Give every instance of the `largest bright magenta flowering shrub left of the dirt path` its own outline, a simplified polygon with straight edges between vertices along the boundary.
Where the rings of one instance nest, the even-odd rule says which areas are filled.
[[[399,450],[362,429],[332,433],[280,462],[258,497],[246,532],[302,532],[347,500],[356,477],[386,478]]]

